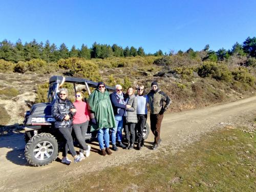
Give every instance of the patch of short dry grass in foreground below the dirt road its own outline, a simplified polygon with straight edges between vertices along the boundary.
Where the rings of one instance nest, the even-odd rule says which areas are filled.
[[[255,146],[251,134],[224,128],[176,154],[167,149],[62,182],[56,191],[255,191]]]

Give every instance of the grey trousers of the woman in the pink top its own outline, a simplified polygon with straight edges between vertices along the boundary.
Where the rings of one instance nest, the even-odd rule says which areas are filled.
[[[86,132],[88,128],[89,121],[79,124],[73,124],[73,130],[75,132],[76,138],[79,142],[80,149],[79,152],[83,153],[88,150],[88,145],[86,144]]]

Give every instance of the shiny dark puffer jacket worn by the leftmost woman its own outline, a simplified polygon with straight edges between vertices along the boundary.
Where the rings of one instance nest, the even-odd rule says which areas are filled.
[[[71,109],[76,109],[75,105],[68,99],[62,100],[60,98],[56,99],[56,101],[52,105],[52,116],[55,118],[55,128],[63,128],[73,125],[73,116],[75,113],[71,112]],[[65,120],[66,115],[69,115],[70,119]]]

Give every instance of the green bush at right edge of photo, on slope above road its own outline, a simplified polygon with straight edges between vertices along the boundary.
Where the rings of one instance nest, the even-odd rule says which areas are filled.
[[[232,71],[234,80],[242,83],[248,83],[250,86],[254,84],[254,77],[248,72],[246,68],[240,67]]]

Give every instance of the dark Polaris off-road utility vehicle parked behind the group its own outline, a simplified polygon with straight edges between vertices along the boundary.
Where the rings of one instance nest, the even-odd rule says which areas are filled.
[[[67,83],[73,84],[72,91],[76,90],[87,91],[91,94],[91,90],[97,87],[97,82],[87,79],[52,76],[49,80],[48,102],[36,103],[32,105],[30,111],[26,112],[24,120],[24,138],[26,141],[25,157],[27,161],[33,166],[42,166],[54,161],[61,146],[61,137],[54,128],[55,119],[52,117],[51,108],[52,104],[58,97],[59,88]],[[70,87],[70,86],[69,86]],[[72,87],[72,86],[71,86]],[[91,90],[90,90],[91,88]],[[106,86],[110,92],[115,91],[115,88]],[[70,94],[71,95],[71,94]],[[150,132],[150,127],[146,123],[143,130],[143,138],[146,139]],[[90,132],[90,123],[88,126],[87,134],[84,139],[95,139],[96,132]]]

